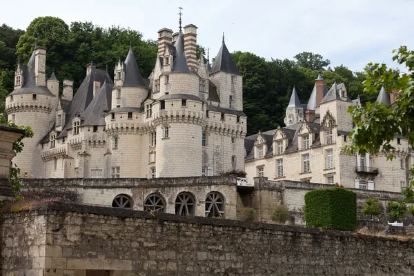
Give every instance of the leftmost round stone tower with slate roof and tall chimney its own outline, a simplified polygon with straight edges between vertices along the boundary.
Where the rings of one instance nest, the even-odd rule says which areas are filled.
[[[51,83],[59,86],[57,79]],[[56,89],[59,90],[58,87]],[[32,138],[24,139],[23,151],[13,159],[21,170],[21,177],[44,177],[43,163],[39,161],[39,142],[49,132],[56,105],[56,95],[46,86],[46,49],[37,47],[27,66],[17,66],[14,90],[6,97],[8,120],[17,125],[30,126],[34,133]]]

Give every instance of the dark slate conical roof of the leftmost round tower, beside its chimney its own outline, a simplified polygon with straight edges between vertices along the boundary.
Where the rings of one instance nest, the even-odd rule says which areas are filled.
[[[52,92],[49,91],[47,86],[37,86],[36,85],[36,72],[34,70],[35,66],[35,57],[34,57],[34,50],[30,59],[28,61],[28,65],[24,66],[21,65],[20,68],[23,71],[23,86],[21,88],[14,89],[10,95],[23,95],[23,94],[39,94],[39,95],[46,95],[49,97],[55,97]]]

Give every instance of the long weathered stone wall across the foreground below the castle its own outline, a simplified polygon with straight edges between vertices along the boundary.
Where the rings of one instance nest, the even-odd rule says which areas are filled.
[[[2,275],[414,275],[413,241],[226,219],[54,203],[1,233]]]

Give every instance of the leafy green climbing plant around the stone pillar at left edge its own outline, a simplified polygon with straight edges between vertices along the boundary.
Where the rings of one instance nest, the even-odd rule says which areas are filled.
[[[16,153],[19,153],[23,150],[23,147],[24,147],[23,138],[33,137],[32,129],[29,126],[17,126],[11,121],[8,121],[7,118],[3,114],[0,114],[0,124],[3,124],[4,126],[10,126],[11,128],[19,128],[21,130],[25,130],[24,134],[19,139],[14,141],[13,143],[12,150],[14,150],[14,152]],[[13,167],[13,164],[12,164],[10,168],[10,184],[12,186],[14,197],[16,197],[17,199],[21,199],[21,197],[19,197],[18,195],[21,190],[19,175],[20,175],[20,169],[16,165],[14,165]]]

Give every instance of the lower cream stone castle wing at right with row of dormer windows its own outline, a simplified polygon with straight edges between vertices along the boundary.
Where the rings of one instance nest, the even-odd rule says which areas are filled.
[[[397,92],[380,91],[377,101],[391,105]],[[360,104],[346,94],[344,83],[328,90],[322,72],[315,81],[308,103],[300,103],[295,88],[288,107],[284,128],[259,132],[246,137],[246,172],[269,180],[311,181],[341,184],[346,188],[401,192],[411,181],[413,149],[405,137],[391,141],[394,159],[387,152],[377,155],[347,155],[353,119],[348,108]]]

